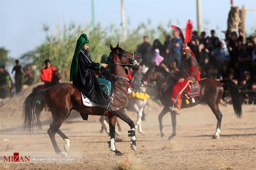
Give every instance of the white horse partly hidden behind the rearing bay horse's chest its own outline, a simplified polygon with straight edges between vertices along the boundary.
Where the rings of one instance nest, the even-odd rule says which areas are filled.
[[[147,72],[148,68],[144,65],[133,75],[130,83],[132,91],[135,92],[146,92],[146,88],[140,85],[140,81],[143,75]],[[137,113],[137,121],[135,122],[135,129],[138,129],[139,133],[145,134],[141,127],[141,117],[143,116],[144,107],[147,104],[147,99],[130,99],[127,106],[128,110],[132,110]],[[145,115],[144,115],[145,116]]]

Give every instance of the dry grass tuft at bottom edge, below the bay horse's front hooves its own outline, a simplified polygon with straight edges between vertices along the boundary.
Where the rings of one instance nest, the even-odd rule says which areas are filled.
[[[146,170],[145,165],[142,165],[141,160],[134,156],[126,157],[116,163],[118,170]]]

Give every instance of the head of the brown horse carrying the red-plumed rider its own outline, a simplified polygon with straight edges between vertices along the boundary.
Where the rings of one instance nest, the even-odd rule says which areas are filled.
[[[156,62],[154,62],[149,68],[145,75],[142,77],[140,84],[142,86],[152,87],[152,83],[156,81],[157,74],[155,73]]]

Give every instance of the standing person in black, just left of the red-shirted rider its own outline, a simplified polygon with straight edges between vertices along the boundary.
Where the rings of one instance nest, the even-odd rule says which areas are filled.
[[[20,66],[20,61],[15,60],[16,66],[13,67],[13,71],[15,71],[15,87],[16,87],[16,92],[17,94],[20,92],[21,89],[21,79],[22,79],[22,74],[26,75],[22,67]]]

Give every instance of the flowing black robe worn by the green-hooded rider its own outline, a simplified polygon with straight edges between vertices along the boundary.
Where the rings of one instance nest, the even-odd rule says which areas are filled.
[[[73,84],[84,96],[106,110],[111,98],[100,88],[93,69],[100,69],[100,64],[93,62],[84,52],[80,51],[78,54],[78,72],[73,77]]]

